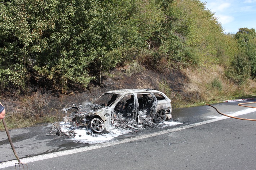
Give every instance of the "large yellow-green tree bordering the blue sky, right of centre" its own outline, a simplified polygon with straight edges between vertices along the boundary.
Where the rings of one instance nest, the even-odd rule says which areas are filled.
[[[214,13],[199,0],[160,1],[165,20],[157,34],[159,52],[170,62],[208,65],[220,61],[225,35]],[[229,57],[229,56],[228,56]]]

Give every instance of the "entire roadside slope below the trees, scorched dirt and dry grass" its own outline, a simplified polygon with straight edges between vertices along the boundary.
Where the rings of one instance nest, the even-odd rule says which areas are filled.
[[[115,68],[102,77],[101,86],[91,83],[88,90],[83,92],[71,89],[65,94],[56,94],[38,89],[26,96],[2,95],[1,102],[6,108],[9,128],[20,128],[60,121],[65,116],[63,108],[91,101],[101,93],[115,89],[157,89],[171,98],[173,108],[255,96],[255,81],[250,81],[246,86],[237,86],[223,75],[224,69],[218,65],[208,69],[186,69],[160,74],[134,63]],[[215,79],[219,80],[221,89],[212,85]]]

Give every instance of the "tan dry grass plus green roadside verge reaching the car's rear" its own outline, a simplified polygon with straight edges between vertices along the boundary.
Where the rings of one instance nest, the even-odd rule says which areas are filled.
[[[235,84],[224,75],[224,69],[219,66],[212,66],[200,70],[183,70],[190,80],[187,84],[190,88],[183,89],[187,93],[197,94],[197,96],[184,98],[178,94],[172,97],[172,106],[193,107],[206,104],[221,103],[224,100],[233,100],[240,98],[255,98],[256,81],[248,80],[244,84]]]

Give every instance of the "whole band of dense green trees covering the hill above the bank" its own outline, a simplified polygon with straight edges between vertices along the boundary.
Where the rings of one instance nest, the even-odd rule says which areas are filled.
[[[134,60],[159,72],[219,63],[241,82],[256,77],[255,49],[255,29],[224,34],[199,0],[0,0],[1,90],[86,88]]]

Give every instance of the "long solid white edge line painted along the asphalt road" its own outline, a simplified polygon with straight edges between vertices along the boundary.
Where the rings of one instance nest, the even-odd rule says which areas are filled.
[[[244,115],[244,114],[248,114],[248,113],[255,112],[255,111],[256,111],[256,109],[249,108],[249,109],[245,109],[245,110],[242,110],[242,111],[237,111],[237,112],[235,112],[233,114],[229,114],[229,115],[239,116],[239,115]],[[196,127],[196,126],[200,126],[200,125],[204,125],[204,124],[207,124],[207,123],[212,123],[212,122],[215,122],[215,121],[224,120],[224,119],[228,119],[228,118],[229,117],[226,117],[226,116],[219,116],[219,117],[217,117],[215,119],[206,120],[206,121],[202,121],[202,122],[194,123],[194,124],[190,124],[190,125],[185,125],[185,126],[182,126],[182,127],[162,130],[162,131],[159,131],[159,132],[144,134],[144,135],[140,135],[140,136],[136,136],[136,137],[132,137],[132,138],[128,138],[128,139],[119,139],[119,140],[116,140],[116,141],[110,141],[110,142],[100,143],[100,144],[91,145],[91,146],[74,148],[74,149],[66,150],[66,151],[59,151],[59,152],[54,152],[54,153],[47,153],[45,155],[39,155],[39,156],[32,156],[32,157],[22,158],[21,162],[30,163],[30,162],[50,159],[50,158],[54,158],[54,157],[58,157],[58,156],[71,155],[71,154],[74,154],[74,153],[85,152],[85,151],[94,150],[94,149],[98,149],[98,148],[114,146],[114,145],[117,145],[117,144],[137,141],[137,140],[140,140],[140,139],[154,137],[154,136],[157,136],[157,135],[162,135],[162,134],[166,134],[166,133],[176,132],[178,130],[192,128],[192,127]],[[14,166],[15,163],[17,163],[17,160],[6,161],[6,162],[3,162],[3,163],[0,163],[0,169],[4,168],[4,167]]]

